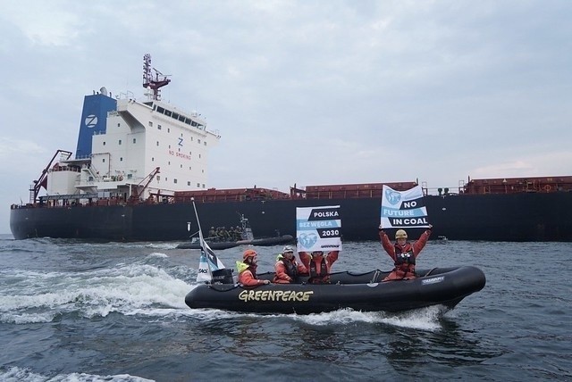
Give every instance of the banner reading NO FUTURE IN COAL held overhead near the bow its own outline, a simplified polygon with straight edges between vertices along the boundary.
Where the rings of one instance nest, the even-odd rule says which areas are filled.
[[[383,228],[429,227],[421,186],[395,191],[383,185],[381,224]]]

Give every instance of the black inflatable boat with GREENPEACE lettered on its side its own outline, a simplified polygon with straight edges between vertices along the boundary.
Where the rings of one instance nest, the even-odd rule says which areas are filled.
[[[332,273],[331,284],[269,284],[244,287],[232,270],[213,272],[213,281],[192,289],[185,297],[191,309],[213,308],[256,313],[310,314],[349,308],[354,311],[408,311],[431,305],[453,309],[467,295],[483,289],[482,270],[472,266],[416,270],[417,278],[382,282],[390,272]],[[273,272],[258,275],[272,279]]]

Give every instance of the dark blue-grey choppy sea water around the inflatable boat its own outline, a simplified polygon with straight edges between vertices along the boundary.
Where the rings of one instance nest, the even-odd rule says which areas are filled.
[[[418,268],[475,265],[484,289],[308,316],[189,309],[199,251],[178,244],[0,237],[0,380],[572,380],[570,243],[431,241]],[[257,247],[259,271],[281,249]],[[344,243],[333,270],[376,268],[379,243]]]

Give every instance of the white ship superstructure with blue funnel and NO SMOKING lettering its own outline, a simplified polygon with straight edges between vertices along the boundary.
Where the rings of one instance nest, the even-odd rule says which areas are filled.
[[[150,57],[146,60],[150,66]],[[206,189],[208,151],[220,135],[207,129],[197,112],[159,100],[158,87],[169,81],[144,81],[143,102],[126,95],[114,99],[105,87],[87,95],[75,158],[70,152],[56,154],[30,198],[40,186],[47,190],[40,200],[53,205],[96,199],[159,202],[175,191]]]

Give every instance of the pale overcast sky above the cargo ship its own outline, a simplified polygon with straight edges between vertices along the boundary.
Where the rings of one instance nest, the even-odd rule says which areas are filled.
[[[209,187],[572,175],[572,1],[28,1],[0,13],[0,233],[83,96],[220,131]]]

